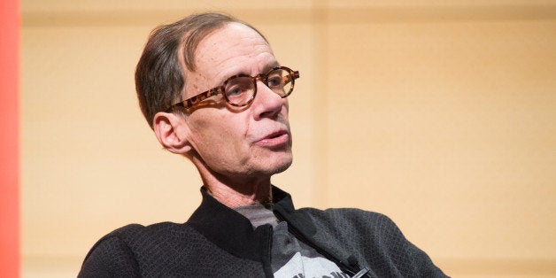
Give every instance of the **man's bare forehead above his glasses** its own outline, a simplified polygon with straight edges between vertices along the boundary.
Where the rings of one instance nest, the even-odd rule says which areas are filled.
[[[207,35],[199,42],[195,54],[196,73],[207,79],[219,80],[236,73],[254,75],[276,64],[265,39],[251,27],[237,22]]]

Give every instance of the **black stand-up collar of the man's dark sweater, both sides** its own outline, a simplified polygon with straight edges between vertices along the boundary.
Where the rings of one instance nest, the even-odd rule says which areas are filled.
[[[278,219],[288,221],[304,236],[313,236],[316,229],[311,220],[295,211],[291,196],[272,186],[273,211]],[[245,259],[262,261],[270,255],[272,227],[268,224],[253,229],[251,222],[241,213],[221,204],[205,188],[201,188],[203,201],[186,224],[195,228],[209,241],[229,253]]]

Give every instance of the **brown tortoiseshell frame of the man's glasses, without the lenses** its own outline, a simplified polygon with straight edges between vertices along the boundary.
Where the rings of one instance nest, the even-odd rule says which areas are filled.
[[[196,104],[204,101],[205,99],[207,99],[209,97],[214,97],[214,96],[217,96],[217,95],[220,95],[220,94],[222,94],[222,96],[224,96],[224,98],[226,99],[226,102],[228,104],[232,105],[232,106],[243,107],[243,106],[249,105],[249,104],[251,104],[253,99],[255,99],[255,96],[257,96],[257,81],[262,81],[265,84],[265,86],[267,86],[266,81],[268,79],[268,75],[270,73],[276,71],[276,70],[284,70],[288,73],[288,75],[286,75],[284,77],[290,77],[290,78],[288,78],[289,79],[288,81],[291,82],[290,91],[285,92],[285,94],[283,96],[279,95],[282,98],[288,97],[288,96],[290,96],[291,92],[293,91],[295,80],[297,78],[299,78],[299,72],[291,70],[289,67],[286,67],[286,66],[275,66],[272,69],[270,69],[268,72],[260,73],[256,76],[251,76],[251,75],[247,75],[247,74],[243,74],[243,73],[231,76],[226,81],[224,81],[224,84],[222,84],[219,87],[209,89],[205,92],[202,92],[202,93],[198,94],[195,97],[189,97],[188,99],[186,99],[184,101],[178,102],[176,104],[172,104],[168,109],[166,109],[166,112],[171,112],[172,108],[174,108],[174,106],[181,106],[181,107],[185,108],[186,110],[188,110],[188,109],[192,108],[193,106],[195,106]],[[251,96],[251,98],[244,104],[234,104],[234,103],[232,103],[228,99],[228,96],[226,96],[226,94],[225,94],[226,85],[228,84],[228,82],[232,81],[232,80],[234,80],[238,77],[250,77],[252,79],[252,82],[253,82],[253,93],[252,93],[253,96]],[[288,81],[286,81],[286,83]]]

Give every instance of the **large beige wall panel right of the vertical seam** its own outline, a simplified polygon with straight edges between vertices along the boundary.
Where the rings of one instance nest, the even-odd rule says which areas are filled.
[[[329,205],[433,258],[556,259],[556,21],[328,32]]]

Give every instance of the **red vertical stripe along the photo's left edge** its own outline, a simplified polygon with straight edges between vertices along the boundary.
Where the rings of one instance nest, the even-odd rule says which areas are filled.
[[[0,276],[19,276],[19,1],[0,0]]]

